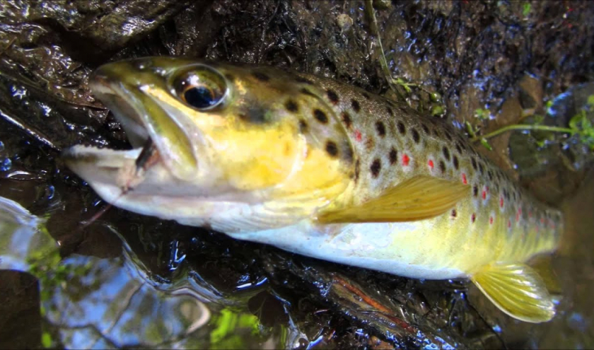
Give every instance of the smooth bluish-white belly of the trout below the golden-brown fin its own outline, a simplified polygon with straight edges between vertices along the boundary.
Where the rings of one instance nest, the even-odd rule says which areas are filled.
[[[419,223],[350,223],[313,226],[308,220],[297,225],[231,237],[267,243],[289,252],[374,269],[417,279],[453,279],[466,276],[453,267],[415,264],[416,254],[398,245],[398,233],[418,231]],[[422,244],[422,242],[420,243]],[[412,253],[412,254],[411,254]]]

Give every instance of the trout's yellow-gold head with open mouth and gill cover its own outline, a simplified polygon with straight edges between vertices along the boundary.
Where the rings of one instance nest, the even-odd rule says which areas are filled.
[[[223,202],[311,214],[347,187],[353,152],[332,107],[283,74],[173,57],[105,64],[91,89],[132,149],[74,146],[64,158],[107,202],[141,214],[207,216],[196,206]]]

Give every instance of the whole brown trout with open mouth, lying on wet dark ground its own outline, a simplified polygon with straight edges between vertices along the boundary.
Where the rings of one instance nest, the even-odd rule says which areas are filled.
[[[557,249],[563,214],[448,122],[267,66],[143,57],[90,81],[132,148],[62,157],[106,202],[330,262],[470,279],[511,317],[554,317],[529,262]]]

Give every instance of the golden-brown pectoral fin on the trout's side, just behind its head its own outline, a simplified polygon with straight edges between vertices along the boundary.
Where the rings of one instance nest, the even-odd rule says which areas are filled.
[[[414,221],[445,213],[470,195],[470,186],[431,176],[416,176],[359,206],[322,211],[320,223]]]

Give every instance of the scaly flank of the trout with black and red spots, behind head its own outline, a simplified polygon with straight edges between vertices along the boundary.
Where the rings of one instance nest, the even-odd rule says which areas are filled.
[[[526,204],[536,201],[441,119],[424,117],[407,106],[370,95],[359,88],[348,86],[345,91],[345,86],[335,81],[316,76],[301,77],[320,86],[318,93],[333,106],[337,115],[347,112],[350,116],[350,122],[345,127],[349,130],[351,144],[355,148],[355,161],[361,163],[361,174],[353,189],[356,195],[351,197],[352,204],[360,204],[370,197],[378,196],[407,177],[419,174],[443,177],[467,182],[479,189],[477,195],[473,194],[453,209],[455,215],[452,211],[427,222],[429,227],[442,228],[441,235],[444,235],[443,228],[446,228],[445,235],[450,238],[452,245],[462,246],[458,252],[477,247],[477,240],[488,240],[496,249],[491,250],[489,247],[489,250],[485,250],[485,260],[527,259],[535,252],[550,250],[557,244],[560,230],[554,229],[551,223],[561,221],[559,211]],[[328,98],[328,91],[332,96],[336,95],[337,99]],[[358,112],[354,110],[353,101],[359,105]],[[344,123],[344,119],[341,120]],[[385,127],[384,133],[378,132],[377,122]],[[404,125],[404,129],[399,129],[399,123]],[[414,141],[413,133],[419,134],[418,142]],[[392,149],[397,152],[395,161],[390,161]],[[455,159],[458,167],[453,165]],[[475,167],[472,165],[473,159],[477,163]],[[378,175],[374,176],[371,168],[376,160],[380,161],[381,168]],[[445,171],[440,168],[442,163]],[[482,172],[479,171],[481,169]],[[505,195],[507,193],[513,193],[516,199]],[[532,214],[531,218],[527,217],[528,213]],[[541,222],[541,218],[544,221]],[[427,230],[431,231],[435,230]],[[459,238],[452,240],[456,235]],[[528,235],[536,238],[523,239]],[[443,258],[446,256],[447,259]],[[441,262],[437,264],[440,265],[465,259],[464,254],[456,252],[448,255],[427,254],[424,257],[424,261],[413,261],[427,264],[429,257],[441,257]]]

